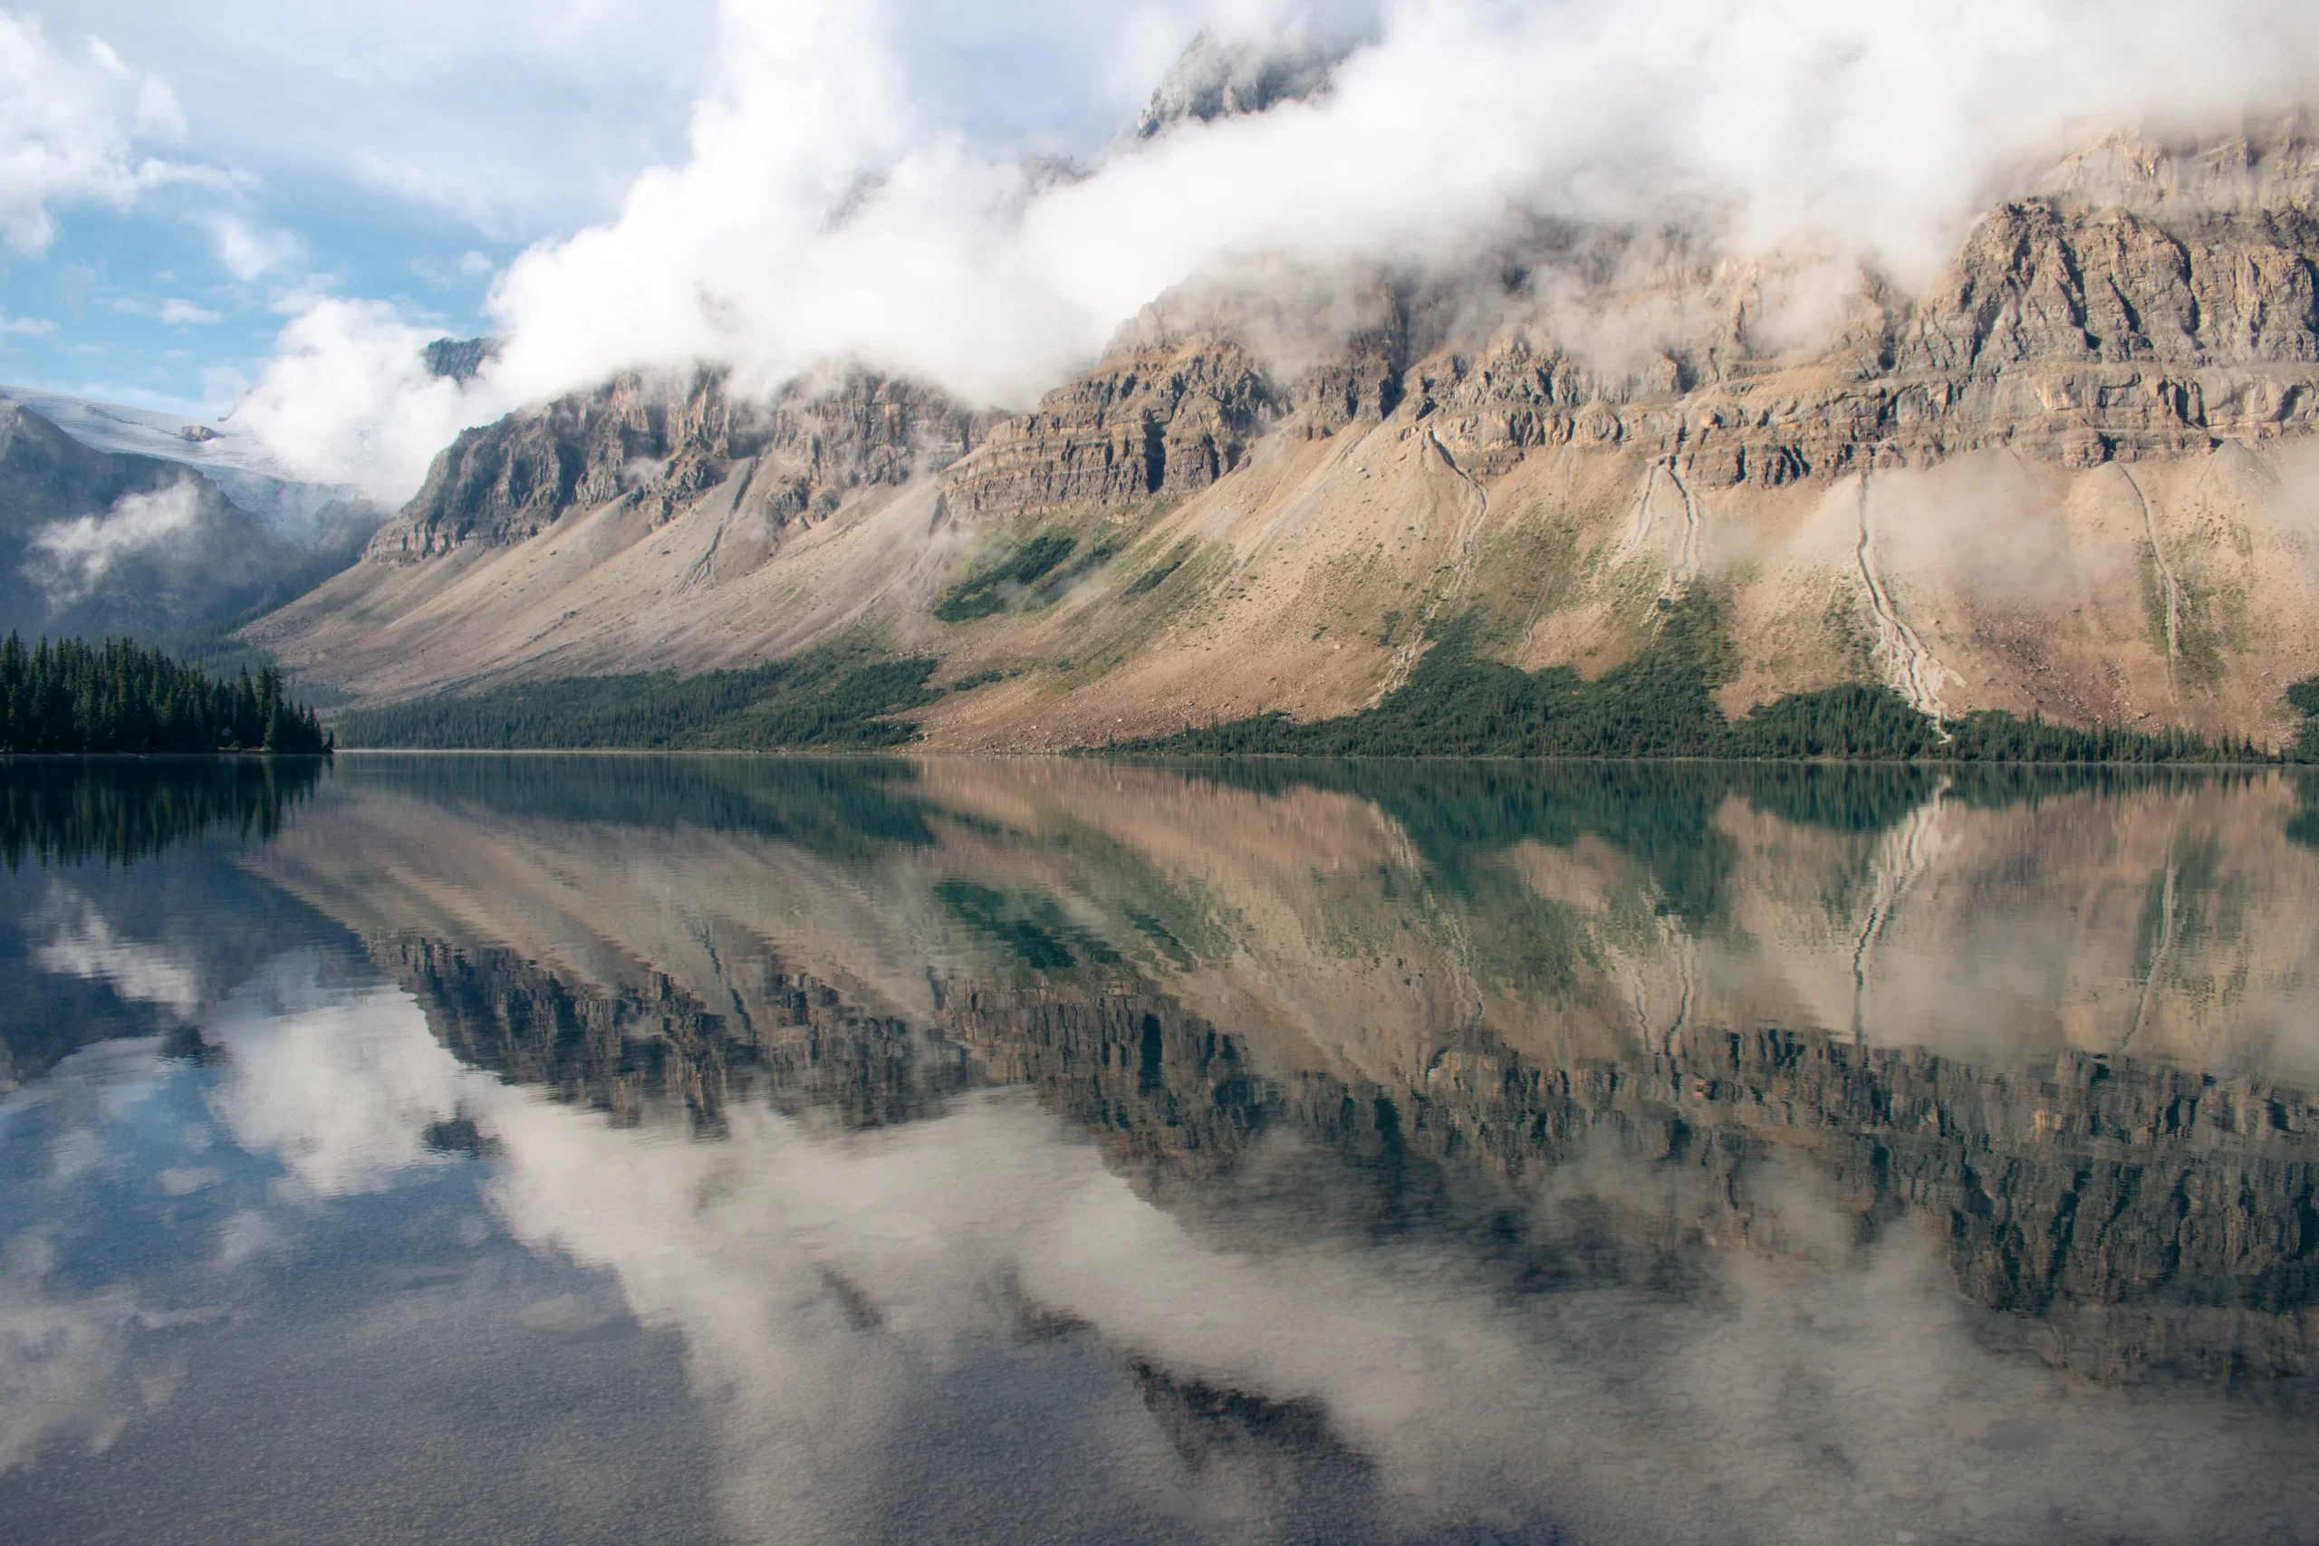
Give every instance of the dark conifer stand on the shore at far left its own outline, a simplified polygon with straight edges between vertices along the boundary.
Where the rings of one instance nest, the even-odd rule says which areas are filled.
[[[278,670],[209,677],[135,640],[0,644],[0,751],[281,751],[332,749],[313,709]]]

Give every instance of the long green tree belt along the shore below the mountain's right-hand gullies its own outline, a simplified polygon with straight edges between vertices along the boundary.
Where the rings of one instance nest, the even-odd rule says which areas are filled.
[[[2189,730],[2055,725],[2004,709],[1934,723],[1885,686],[1790,693],[1739,721],[1716,705],[1735,656],[1707,589],[1663,600],[1658,633],[1595,681],[1568,665],[1524,672],[1475,649],[1475,619],[1438,630],[1410,679],[1373,709],[1296,723],[1257,714],[1113,751],[1162,756],[1609,756],[1853,758],[1950,763],[2233,763],[2252,742]]]

